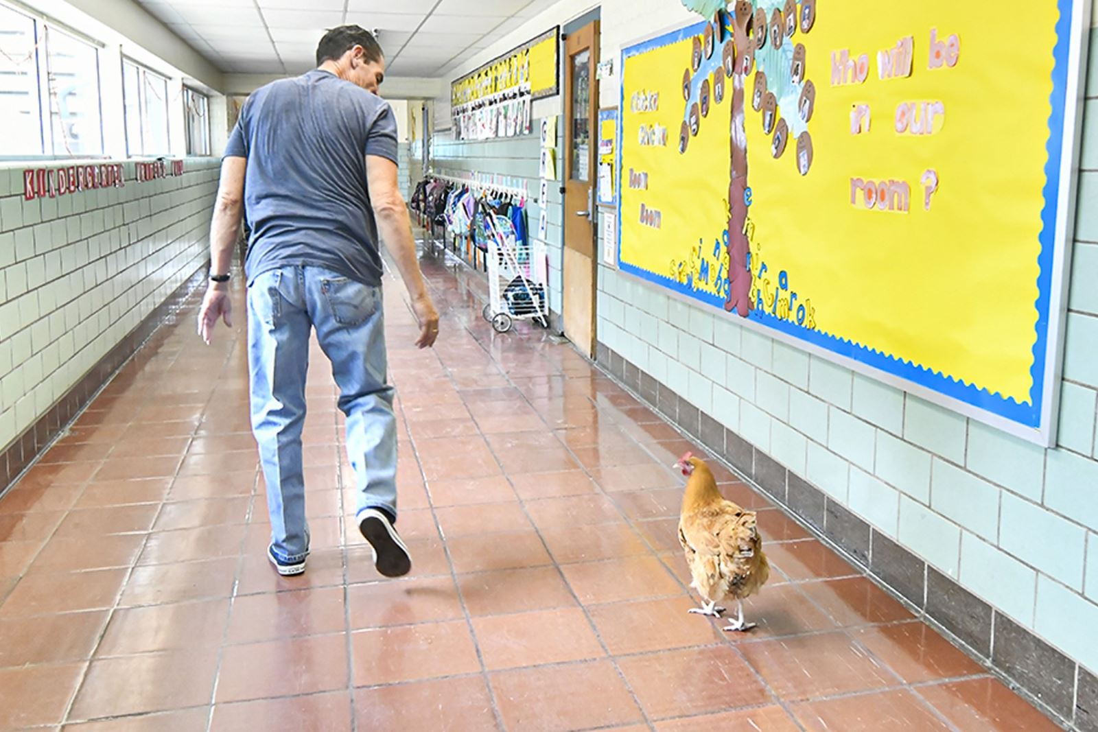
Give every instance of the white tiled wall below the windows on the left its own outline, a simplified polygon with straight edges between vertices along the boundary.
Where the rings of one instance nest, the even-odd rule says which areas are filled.
[[[32,201],[27,166],[0,166],[0,448],[209,257],[217,162],[148,182],[123,165],[123,188]]]

